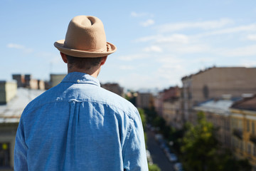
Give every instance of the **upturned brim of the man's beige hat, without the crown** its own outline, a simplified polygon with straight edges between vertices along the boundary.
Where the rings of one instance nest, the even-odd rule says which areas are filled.
[[[114,46],[114,44],[107,42],[108,48],[106,52],[95,52],[95,51],[80,51],[72,48],[64,48],[64,41],[55,41],[54,46],[55,48],[58,48],[58,50],[62,53],[65,53],[69,56],[79,57],[79,58],[97,58],[97,57],[103,57],[108,56],[111,53],[114,53],[117,51],[117,47]],[[106,46],[107,46],[106,45]]]

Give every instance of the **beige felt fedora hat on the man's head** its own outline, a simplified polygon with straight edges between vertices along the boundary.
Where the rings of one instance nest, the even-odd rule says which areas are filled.
[[[65,40],[56,41],[54,46],[62,53],[80,58],[108,56],[117,50],[106,41],[102,21],[95,16],[75,16],[68,25]]]

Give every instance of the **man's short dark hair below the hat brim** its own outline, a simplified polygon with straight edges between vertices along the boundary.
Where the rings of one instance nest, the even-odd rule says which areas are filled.
[[[75,66],[76,68],[80,69],[86,69],[90,70],[93,66],[100,65],[100,62],[102,61],[103,57],[97,57],[97,58],[78,58],[75,56],[67,56],[68,64],[70,66]]]

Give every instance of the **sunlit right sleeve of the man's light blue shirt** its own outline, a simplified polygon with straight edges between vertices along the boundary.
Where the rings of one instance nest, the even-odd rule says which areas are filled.
[[[124,170],[147,171],[149,167],[146,160],[146,147],[142,120],[137,112],[137,117],[131,120],[127,138],[122,149]]]

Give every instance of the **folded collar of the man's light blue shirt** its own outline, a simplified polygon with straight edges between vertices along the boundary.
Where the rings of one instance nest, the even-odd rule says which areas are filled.
[[[89,83],[94,84],[95,86],[100,86],[100,81],[98,81],[97,78],[94,78],[87,73],[78,72],[68,73],[61,83]]]

